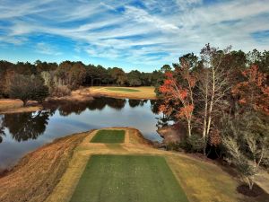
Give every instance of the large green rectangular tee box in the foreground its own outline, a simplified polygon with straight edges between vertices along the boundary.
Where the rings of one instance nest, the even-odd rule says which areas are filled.
[[[187,202],[161,156],[92,155],[71,202]]]

